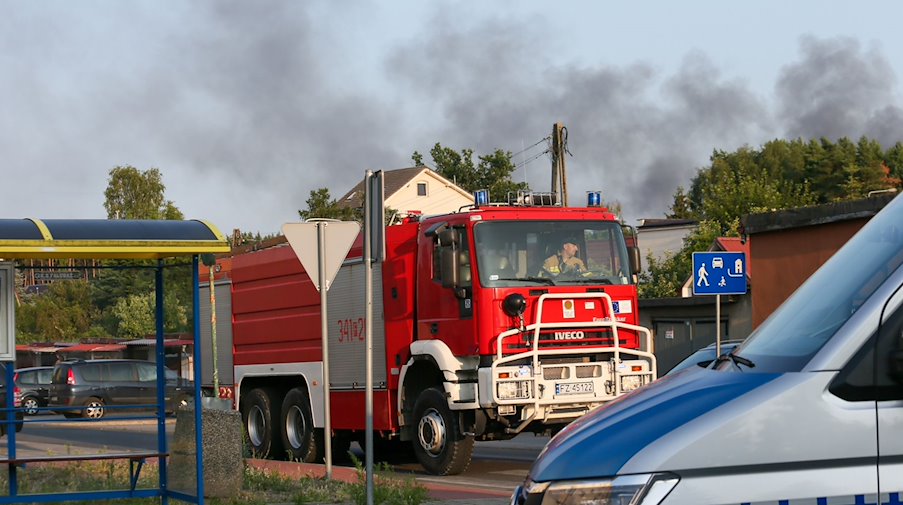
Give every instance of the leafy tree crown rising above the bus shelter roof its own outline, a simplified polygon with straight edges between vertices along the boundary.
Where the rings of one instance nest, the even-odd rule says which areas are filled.
[[[184,219],[182,212],[166,200],[159,169],[140,171],[132,166],[110,170],[104,191],[109,219]]]

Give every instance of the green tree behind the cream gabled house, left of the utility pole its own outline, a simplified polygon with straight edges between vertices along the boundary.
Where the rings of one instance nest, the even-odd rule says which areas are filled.
[[[515,166],[511,152],[496,149],[491,154],[478,156],[473,160],[472,149],[462,149],[460,153],[438,142],[430,149],[436,173],[454,182],[465,191],[488,189],[491,199],[503,201],[509,193],[529,191],[526,182],[514,182],[511,174]],[[423,155],[417,151],[411,155],[414,164],[423,165]]]

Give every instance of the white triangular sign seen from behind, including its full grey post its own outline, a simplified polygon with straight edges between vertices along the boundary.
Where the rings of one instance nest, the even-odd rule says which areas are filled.
[[[331,219],[311,220],[307,223],[286,223],[282,233],[295,251],[295,256],[320,292],[320,332],[323,345],[323,409],[326,478],[332,479],[332,419],[329,406],[329,328],[326,292],[345,261],[351,244],[360,233],[360,225],[353,221]],[[311,244],[317,244],[316,249]],[[331,256],[326,254],[327,249]]]

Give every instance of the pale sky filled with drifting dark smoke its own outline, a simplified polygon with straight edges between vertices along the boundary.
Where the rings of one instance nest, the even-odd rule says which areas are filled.
[[[273,232],[414,150],[518,152],[560,121],[571,198],[633,222],[713,149],[903,140],[903,4],[748,3],[0,3],[0,216],[102,218],[132,165],[186,217]],[[547,190],[548,160],[515,177]]]

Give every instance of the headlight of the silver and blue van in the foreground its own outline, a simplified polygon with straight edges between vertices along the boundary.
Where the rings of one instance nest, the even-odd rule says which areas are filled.
[[[614,479],[527,483],[524,505],[657,505],[674,489],[674,474],[625,475]]]

